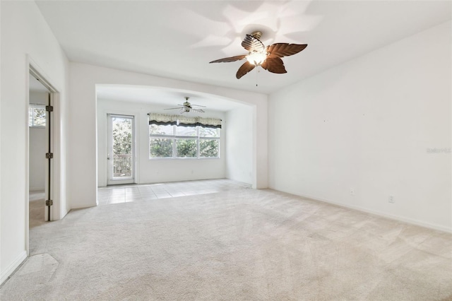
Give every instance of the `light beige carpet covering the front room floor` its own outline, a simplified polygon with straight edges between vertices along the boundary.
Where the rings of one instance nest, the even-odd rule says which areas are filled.
[[[452,235],[272,190],[71,211],[1,300],[451,300]]]

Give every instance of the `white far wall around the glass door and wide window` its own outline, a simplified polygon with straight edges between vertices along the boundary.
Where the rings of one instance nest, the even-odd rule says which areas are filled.
[[[208,111],[203,117],[225,119],[223,112]],[[97,185],[107,185],[107,114],[134,116],[136,127],[136,183],[174,182],[225,177],[225,158],[219,159],[149,159],[148,113],[168,114],[162,107],[138,102],[97,99]],[[220,154],[225,153],[225,129],[220,136]]]

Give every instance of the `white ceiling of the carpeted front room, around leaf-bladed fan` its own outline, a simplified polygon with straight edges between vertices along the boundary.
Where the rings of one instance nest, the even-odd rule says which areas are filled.
[[[451,20],[451,1],[36,2],[71,61],[260,93]],[[242,61],[208,64],[246,54],[240,43],[254,30],[264,45],[308,47],[283,58],[285,74],[259,68],[238,80]]]

